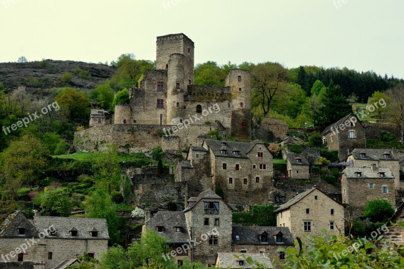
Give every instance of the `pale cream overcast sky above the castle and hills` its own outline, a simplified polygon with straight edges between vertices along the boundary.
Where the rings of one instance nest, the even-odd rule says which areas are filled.
[[[184,33],[195,64],[347,67],[404,77],[402,0],[0,0],[0,62],[156,59]]]

